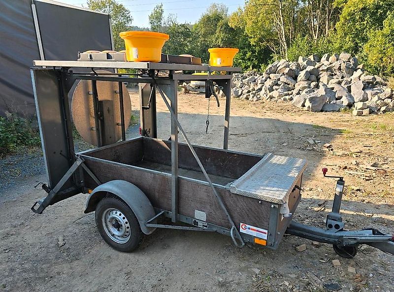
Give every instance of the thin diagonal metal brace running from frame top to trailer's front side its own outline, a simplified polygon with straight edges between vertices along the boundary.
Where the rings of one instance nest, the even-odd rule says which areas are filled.
[[[186,143],[188,144],[188,146],[189,146],[189,148],[190,148],[190,151],[192,152],[194,158],[196,159],[196,161],[197,161],[197,163],[198,163],[198,166],[200,167],[200,169],[201,169],[202,173],[204,174],[206,180],[208,181],[209,185],[211,186],[212,191],[213,191],[214,195],[216,196],[216,198],[217,198],[217,200],[218,200],[218,202],[219,202],[219,204],[220,204],[222,210],[225,212],[226,217],[227,217],[227,219],[228,219],[229,222],[230,222],[231,228],[235,231],[235,234],[237,235],[238,239],[241,241],[241,246],[244,246],[244,245],[245,245],[245,242],[243,241],[243,239],[242,239],[242,237],[241,237],[241,234],[240,234],[239,231],[238,231],[238,228],[235,226],[234,222],[232,221],[231,216],[230,216],[230,214],[229,214],[229,211],[227,210],[227,208],[226,208],[226,206],[225,206],[225,204],[224,204],[224,202],[223,202],[221,196],[220,196],[220,195],[218,194],[218,192],[216,191],[216,189],[215,189],[215,187],[214,187],[214,185],[213,185],[211,179],[210,179],[209,176],[208,176],[208,173],[205,171],[205,168],[204,168],[204,166],[202,165],[200,159],[198,158],[197,153],[196,153],[196,151],[194,150],[192,144],[190,143],[189,138],[187,137],[185,131],[183,130],[181,124],[179,123],[179,121],[178,121],[178,119],[177,119],[177,116],[176,116],[176,114],[175,114],[175,112],[174,112],[172,106],[170,106],[170,104],[168,103],[168,101],[167,101],[167,99],[166,99],[166,97],[165,97],[165,95],[164,95],[164,93],[163,93],[163,90],[160,88],[160,86],[158,86],[157,88],[158,88],[158,90],[159,90],[160,95],[162,96],[162,98],[163,98],[163,100],[164,100],[165,105],[167,106],[168,110],[169,110],[170,113],[171,113],[171,126],[172,126],[172,124],[175,124],[175,125],[178,126],[178,129],[181,131],[183,137],[185,138]],[[175,98],[175,99],[176,99],[176,98]],[[172,130],[172,127],[171,127],[171,130]],[[171,136],[171,137],[172,137],[172,136]],[[171,138],[171,139],[172,139],[172,138]],[[171,142],[173,142],[173,141],[171,141]],[[177,142],[178,142],[178,141],[177,141]],[[178,143],[176,143],[176,144],[178,144]],[[171,146],[172,146],[172,143],[171,143]],[[172,151],[172,148],[171,148],[171,151]],[[178,153],[176,153],[176,154],[178,154]],[[234,239],[233,239],[233,241],[234,241],[234,244],[238,246],[237,242],[236,242]]]

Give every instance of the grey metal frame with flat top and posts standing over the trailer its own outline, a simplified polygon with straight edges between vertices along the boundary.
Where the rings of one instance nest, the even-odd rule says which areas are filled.
[[[209,176],[207,175],[204,167],[202,166],[202,163],[199,161],[198,156],[196,152],[194,151],[194,148],[192,144],[190,143],[186,133],[182,129],[181,125],[179,124],[179,121],[177,119],[177,111],[178,111],[178,104],[177,104],[177,86],[178,86],[178,80],[215,80],[220,84],[225,85],[224,86],[224,92],[227,94],[227,102],[226,102],[226,123],[225,123],[225,137],[224,137],[224,149],[227,149],[228,147],[228,140],[229,140],[229,118],[230,118],[230,84],[231,84],[231,78],[232,74],[227,74],[227,75],[190,75],[190,74],[175,74],[174,69],[186,69],[186,70],[207,70],[207,71],[215,71],[218,68],[221,71],[239,71],[239,68],[234,68],[234,67],[209,67],[206,65],[183,65],[183,64],[161,64],[161,63],[150,63],[150,62],[139,62],[139,63],[132,63],[132,62],[78,62],[78,61],[33,61],[35,65],[42,65],[42,66],[53,66],[54,71],[59,73],[59,99],[62,101],[63,104],[63,115],[64,119],[66,121],[66,132],[70,129],[69,121],[70,119],[70,113],[68,109],[68,103],[66,103],[64,100],[67,98],[68,90],[71,88],[71,85],[74,81],[79,80],[79,79],[85,79],[85,80],[91,80],[92,81],[92,97],[94,101],[97,101],[98,99],[98,93],[97,93],[97,87],[96,82],[98,80],[100,81],[117,81],[119,83],[119,94],[120,94],[120,99],[123,97],[123,92],[122,92],[122,82],[124,81],[131,81],[131,82],[137,82],[137,83],[149,83],[151,86],[155,86],[158,88],[161,96],[163,97],[163,100],[165,104],[167,105],[168,109],[171,112],[171,220],[173,223],[179,221],[178,219],[178,130],[180,130],[183,134],[183,136],[186,139],[186,142],[188,146],[190,147],[194,157],[197,160],[197,163],[199,164],[202,172],[204,173],[204,176],[206,177],[208,184],[211,186],[214,195],[217,197],[223,211],[226,213],[226,216],[230,222],[230,225],[232,226],[230,230],[230,234],[233,238],[233,241],[235,244],[237,244],[236,239],[239,240],[241,243],[240,245],[243,245],[243,239],[241,235],[239,234],[238,229],[235,227],[229,212],[226,209],[226,206],[224,205],[221,197],[219,194],[216,192],[216,187],[217,185],[214,185]],[[78,66],[78,67],[88,67],[88,68],[113,68],[113,69],[118,69],[118,68],[134,68],[134,69],[146,69],[145,74],[143,76],[139,76],[140,78],[133,78],[133,77],[122,77],[119,76],[120,74],[114,73],[111,75],[107,74],[89,74],[89,73],[77,73],[74,74],[71,70],[70,67],[72,66]],[[48,70],[48,69],[40,69],[40,68],[32,68],[32,78],[33,78],[33,84],[34,87],[37,86],[37,83],[40,82],[40,80],[34,79],[34,72],[37,70]],[[154,77],[155,70],[168,70],[169,75],[168,77],[164,78],[158,78]],[[165,94],[164,94],[165,92]],[[37,96],[37,94],[35,94]],[[169,99],[169,102],[167,99]],[[36,98],[38,100],[38,98]],[[94,111],[95,111],[95,124],[96,124],[96,130],[98,131],[98,142],[99,142],[99,147],[102,146],[102,141],[100,139],[100,130],[101,130],[101,125],[100,125],[100,120],[98,117],[98,111],[99,111],[99,104],[97,102],[93,102],[94,104]],[[156,106],[156,105],[155,105]],[[38,105],[37,105],[38,109]],[[122,120],[122,140],[124,141],[126,139],[125,137],[125,125],[124,125],[124,112],[123,112],[123,106],[121,103],[121,115],[123,116]],[[142,110],[142,104],[141,104],[141,110]],[[152,113],[151,113],[152,114]],[[42,115],[38,111],[38,120],[39,122],[43,119]],[[151,117],[152,119],[152,126],[156,126],[156,112],[153,112],[153,115]],[[143,127],[145,121],[142,118],[141,120],[141,127]],[[43,145],[43,151],[44,151],[44,156],[46,153],[46,135],[52,135],[52,133],[45,133],[41,127],[40,127],[40,132],[41,135],[43,136],[42,138],[42,145]],[[155,136],[157,133],[155,133]],[[72,135],[67,134],[66,139],[68,141],[69,145],[73,145],[72,143]],[[69,155],[66,157],[70,162],[72,162],[73,158],[75,157],[75,154],[73,154],[73,149],[69,149]],[[82,157],[81,155],[77,155],[78,159],[79,157]],[[77,160],[79,161],[79,160]],[[51,164],[51,161],[46,160],[45,161],[46,166]],[[70,169],[74,167],[75,163],[73,166],[71,166]],[[74,171],[77,169],[76,167]],[[69,173],[70,169],[66,172],[66,174]],[[74,173],[72,171],[71,174]],[[90,172],[91,173],[91,172]],[[93,173],[92,173],[93,174]],[[163,173],[161,173],[163,174]],[[67,178],[68,180],[68,178]],[[67,181],[66,180],[66,181]],[[95,181],[98,181],[97,178]],[[63,179],[59,182],[56,182],[56,187],[59,185],[60,182],[63,182]],[[64,184],[65,182],[63,182]],[[52,183],[54,185],[55,183]],[[63,186],[61,185],[61,187]],[[55,188],[56,188],[55,187]],[[50,204],[51,199],[53,199],[53,192],[55,189],[51,190],[49,188],[49,192],[52,195],[48,195],[47,198],[45,199],[45,203],[41,204],[39,209],[42,212],[43,209]],[[59,190],[57,190],[59,191]],[[56,193],[56,192],[55,192]],[[42,209],[42,210],[41,210]],[[235,234],[234,234],[235,233]],[[236,238],[235,238],[236,237]]]

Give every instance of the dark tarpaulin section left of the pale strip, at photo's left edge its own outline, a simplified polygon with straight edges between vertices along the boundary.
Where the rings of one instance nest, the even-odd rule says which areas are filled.
[[[35,113],[29,67],[39,60],[32,1],[0,1],[0,115]]]

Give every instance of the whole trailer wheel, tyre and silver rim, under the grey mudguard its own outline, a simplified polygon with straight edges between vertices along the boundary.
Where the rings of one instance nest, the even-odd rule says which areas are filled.
[[[144,234],[129,205],[117,196],[106,196],[96,207],[96,225],[112,248],[129,253],[143,241]]]

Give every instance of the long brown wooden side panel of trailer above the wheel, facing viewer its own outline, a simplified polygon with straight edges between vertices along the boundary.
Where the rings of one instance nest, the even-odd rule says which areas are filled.
[[[86,160],[85,163],[102,183],[115,179],[131,182],[146,194],[154,207],[171,210],[170,177],[105,162]],[[85,185],[91,189],[97,186],[86,173]],[[268,228],[270,203],[259,203],[258,199],[232,194],[225,189],[217,190],[236,227],[242,222]],[[194,218],[195,210],[203,211],[207,213],[207,222],[230,228],[229,221],[209,186],[179,179],[178,202],[179,214]]]

